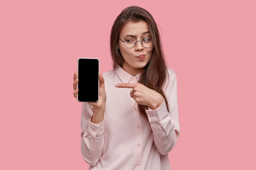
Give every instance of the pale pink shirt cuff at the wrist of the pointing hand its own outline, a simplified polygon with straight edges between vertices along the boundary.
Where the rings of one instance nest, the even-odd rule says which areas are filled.
[[[168,114],[168,110],[165,104],[165,100],[164,102],[155,110],[152,110],[150,108],[148,108],[148,110],[146,110],[146,113],[148,115],[148,121],[149,122],[158,122],[160,120],[162,120],[164,117],[166,117],[166,114]]]

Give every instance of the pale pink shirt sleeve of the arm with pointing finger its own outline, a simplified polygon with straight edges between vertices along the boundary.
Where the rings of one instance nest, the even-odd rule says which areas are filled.
[[[168,68],[168,75],[168,83],[163,90],[168,100],[169,112],[165,101],[156,110],[146,110],[153,131],[155,148],[162,155],[166,155],[172,150],[180,136],[177,80],[171,68]]]

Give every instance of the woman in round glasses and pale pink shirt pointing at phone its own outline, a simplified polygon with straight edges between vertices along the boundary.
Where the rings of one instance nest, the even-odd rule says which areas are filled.
[[[170,170],[168,152],[180,135],[176,75],[152,15],[124,9],[110,49],[114,70],[99,75],[99,101],[82,106],[83,158],[90,170]],[[74,97],[78,81],[75,73]]]

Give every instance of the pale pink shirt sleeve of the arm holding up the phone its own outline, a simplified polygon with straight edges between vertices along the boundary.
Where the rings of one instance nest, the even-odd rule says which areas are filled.
[[[81,152],[83,159],[94,166],[102,153],[104,120],[99,124],[94,124],[90,121],[91,117],[92,106],[84,102],[81,115]]]

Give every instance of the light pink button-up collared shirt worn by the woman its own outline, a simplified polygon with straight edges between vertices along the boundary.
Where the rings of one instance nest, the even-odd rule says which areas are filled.
[[[92,106],[83,103],[81,151],[90,170],[170,170],[168,152],[180,135],[177,108],[176,75],[168,68],[165,102],[156,110],[146,110],[148,120],[140,115],[130,97],[131,88],[117,88],[117,83],[136,83],[120,66],[103,74],[107,95],[104,120],[93,124]]]

